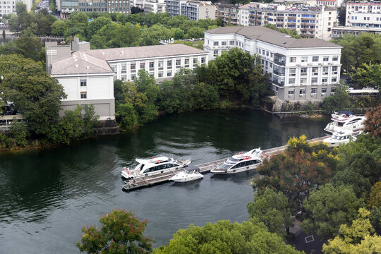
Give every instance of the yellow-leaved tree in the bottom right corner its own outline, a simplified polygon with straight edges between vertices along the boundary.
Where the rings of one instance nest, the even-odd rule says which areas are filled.
[[[325,254],[373,254],[381,253],[381,236],[373,235],[374,229],[370,224],[370,212],[361,208],[358,217],[351,226],[340,226],[339,236],[323,244]]]

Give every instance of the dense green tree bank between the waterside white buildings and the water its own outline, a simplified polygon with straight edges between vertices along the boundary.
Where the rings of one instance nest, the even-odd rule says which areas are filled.
[[[157,119],[159,112],[214,109],[226,99],[259,107],[272,91],[261,73],[258,57],[232,49],[208,66],[198,66],[194,71],[181,69],[172,80],[160,85],[140,70],[134,83],[116,80],[114,95],[116,120],[128,130]]]

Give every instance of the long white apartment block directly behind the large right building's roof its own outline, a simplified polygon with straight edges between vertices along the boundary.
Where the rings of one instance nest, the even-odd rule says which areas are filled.
[[[275,25],[296,30],[303,38],[330,40],[337,23],[336,8],[250,3],[239,7],[240,25]]]

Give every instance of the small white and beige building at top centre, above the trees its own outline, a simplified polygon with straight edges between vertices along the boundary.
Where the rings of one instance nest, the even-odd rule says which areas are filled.
[[[216,18],[216,6],[211,1],[188,0],[181,2],[180,8],[181,15],[188,17],[190,20]]]

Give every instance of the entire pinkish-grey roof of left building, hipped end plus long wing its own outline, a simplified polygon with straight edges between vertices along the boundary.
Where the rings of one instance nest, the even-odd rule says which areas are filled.
[[[176,57],[187,54],[207,54],[207,52],[184,44],[83,50],[54,61],[52,75],[114,73],[107,61]]]

